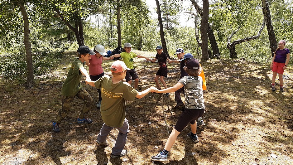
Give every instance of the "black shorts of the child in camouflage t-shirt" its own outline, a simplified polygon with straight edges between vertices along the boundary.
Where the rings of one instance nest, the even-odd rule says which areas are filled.
[[[204,109],[187,109],[179,116],[175,129],[181,132],[189,123],[195,124],[196,120],[204,114]]]

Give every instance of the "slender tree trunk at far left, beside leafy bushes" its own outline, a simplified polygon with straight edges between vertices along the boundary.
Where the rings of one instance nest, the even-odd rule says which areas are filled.
[[[26,60],[27,60],[27,65],[26,65],[26,70],[27,70],[26,85],[28,87],[34,87],[35,82],[34,82],[34,68],[33,68],[33,63],[32,63],[32,56],[31,56],[30,25],[29,25],[29,20],[28,20],[26,7],[25,7],[24,3],[23,2],[18,2],[18,5],[19,5],[20,11],[22,13],[22,19],[23,19],[23,25],[24,25],[23,43],[24,43],[24,47],[26,49]]]

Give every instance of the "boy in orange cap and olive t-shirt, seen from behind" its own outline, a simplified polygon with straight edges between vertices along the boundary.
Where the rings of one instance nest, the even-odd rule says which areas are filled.
[[[112,148],[111,158],[118,158],[127,154],[127,150],[123,149],[127,134],[129,133],[128,120],[125,118],[126,100],[133,101],[135,98],[141,99],[155,87],[150,87],[142,92],[137,92],[127,82],[122,82],[126,76],[127,68],[122,61],[115,61],[111,66],[113,78],[104,75],[97,81],[86,80],[86,83],[101,90],[101,116],[103,126],[98,134],[97,143],[107,145],[106,138],[113,127],[117,128],[119,133]]]

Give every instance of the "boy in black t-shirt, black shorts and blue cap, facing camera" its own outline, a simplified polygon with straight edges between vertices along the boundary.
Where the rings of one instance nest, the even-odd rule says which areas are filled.
[[[167,77],[167,74],[168,74],[166,61],[170,61],[170,59],[167,57],[166,53],[163,52],[163,48],[161,45],[156,47],[156,51],[157,51],[156,57],[153,60],[151,60],[151,59],[147,59],[147,60],[149,60],[151,62],[156,62],[156,60],[158,59],[159,70],[156,73],[155,82],[156,82],[158,89],[160,90],[161,89],[161,86],[159,83],[159,78],[160,78],[160,81],[162,82],[163,86],[166,89],[167,84],[164,81],[164,77]],[[170,93],[166,93],[166,97],[168,97],[169,94]]]

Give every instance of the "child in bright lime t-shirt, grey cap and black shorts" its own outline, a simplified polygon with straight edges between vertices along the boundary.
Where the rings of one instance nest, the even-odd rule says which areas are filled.
[[[132,48],[132,46],[130,45],[130,43],[125,43],[123,50],[122,50],[122,53],[112,55],[111,57],[113,57],[113,58],[114,57],[122,57],[123,62],[130,69],[130,70],[127,70],[127,72],[126,72],[125,80],[130,85],[132,83],[132,80],[134,80],[134,89],[137,89],[139,78],[138,78],[138,75],[133,67],[133,58],[134,57],[145,58],[147,61],[150,61],[150,59],[145,56],[137,55],[136,53],[131,51],[131,48]]]

